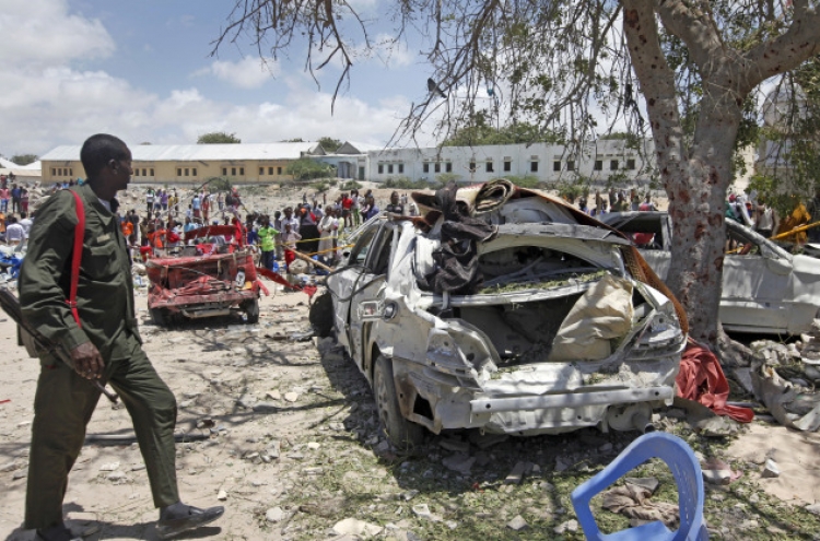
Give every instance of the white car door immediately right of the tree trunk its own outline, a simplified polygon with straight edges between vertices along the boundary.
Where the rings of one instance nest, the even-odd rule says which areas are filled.
[[[790,259],[749,230],[728,221],[726,225],[745,248],[724,258],[721,322],[727,330],[786,332],[793,297]]]

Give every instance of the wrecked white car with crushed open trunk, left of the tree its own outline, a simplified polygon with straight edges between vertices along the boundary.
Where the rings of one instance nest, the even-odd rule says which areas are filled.
[[[644,430],[671,403],[686,345],[672,302],[633,274],[629,239],[540,192],[507,183],[499,196],[497,183],[452,186],[458,202],[426,222],[371,220],[327,279],[337,339],[388,437],[407,448],[422,427]]]

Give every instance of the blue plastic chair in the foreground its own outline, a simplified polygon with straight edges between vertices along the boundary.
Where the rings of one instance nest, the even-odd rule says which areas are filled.
[[[680,528],[669,529],[660,521],[648,522],[636,528],[601,533],[595,521],[589,502],[608,489],[622,475],[646,462],[659,458],[666,462],[678,484]],[[589,540],[606,541],[704,541],[708,531],[703,525],[703,473],[692,449],[677,436],[664,432],[651,432],[639,437],[623,449],[609,466],[572,492],[575,515]]]

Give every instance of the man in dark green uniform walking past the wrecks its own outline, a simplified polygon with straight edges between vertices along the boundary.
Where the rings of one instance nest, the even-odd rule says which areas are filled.
[[[37,212],[21,268],[23,315],[46,338],[65,348],[73,369],[40,355],[34,399],[25,527],[36,539],[73,539],[62,521],[68,473],[85,437],[99,391],[85,379],[108,383],[133,421],[140,451],[160,508],[161,539],[211,522],[222,507],[198,509],[179,501],[174,426],[176,400],[142,351],[133,308],[131,264],[117,226],[117,191],[131,176],[131,152],[113,136],[97,134],[82,146],[87,180],[75,189],[85,211],[85,234],[77,293],[80,325],[69,298],[77,205],[69,191],[51,196]]]

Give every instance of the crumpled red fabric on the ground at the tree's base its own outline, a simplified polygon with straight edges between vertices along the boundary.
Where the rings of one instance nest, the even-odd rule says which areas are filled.
[[[735,421],[750,423],[754,412],[749,408],[728,405],[729,383],[721,368],[721,362],[707,348],[689,342],[680,360],[680,372],[675,378],[678,396],[700,402],[718,415],[728,415]]]

